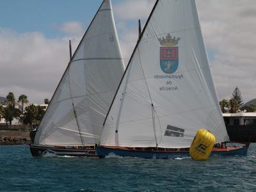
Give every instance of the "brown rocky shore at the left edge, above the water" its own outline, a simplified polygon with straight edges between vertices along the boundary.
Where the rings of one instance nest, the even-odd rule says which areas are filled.
[[[29,132],[25,131],[0,131],[0,145],[31,144]]]

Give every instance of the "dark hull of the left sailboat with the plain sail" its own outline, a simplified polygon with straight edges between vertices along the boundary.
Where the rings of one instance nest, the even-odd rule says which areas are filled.
[[[55,147],[48,145],[30,145],[30,152],[32,156],[44,156],[45,154],[52,154],[56,156],[76,156],[76,157],[97,157],[95,147]]]

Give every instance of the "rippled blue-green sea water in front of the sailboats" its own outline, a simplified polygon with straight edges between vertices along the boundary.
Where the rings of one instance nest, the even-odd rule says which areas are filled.
[[[256,191],[256,144],[247,157],[207,161],[32,157],[27,145],[0,146],[0,191]]]

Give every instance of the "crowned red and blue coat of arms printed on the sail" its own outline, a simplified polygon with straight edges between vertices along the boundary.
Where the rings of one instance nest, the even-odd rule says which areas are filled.
[[[175,47],[178,44],[180,38],[172,38],[170,34],[166,35],[166,38],[159,38],[159,43],[163,45],[160,47],[160,67],[166,74],[174,73],[179,65],[179,47]]]

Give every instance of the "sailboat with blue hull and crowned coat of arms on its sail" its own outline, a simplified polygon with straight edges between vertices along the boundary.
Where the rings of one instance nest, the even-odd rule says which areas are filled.
[[[229,140],[196,2],[157,0],[109,108],[97,154],[189,157],[202,128],[214,134],[216,143]],[[247,150],[213,148],[211,154],[243,156]]]

